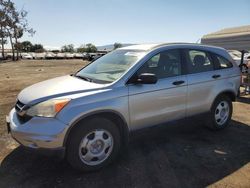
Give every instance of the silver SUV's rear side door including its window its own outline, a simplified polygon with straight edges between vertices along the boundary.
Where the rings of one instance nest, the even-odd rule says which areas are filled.
[[[184,59],[188,72],[187,116],[192,116],[210,109],[210,96],[217,77],[213,59],[208,52],[186,49]]]

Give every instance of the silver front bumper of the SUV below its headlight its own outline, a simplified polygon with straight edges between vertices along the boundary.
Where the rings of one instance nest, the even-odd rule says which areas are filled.
[[[37,150],[64,150],[68,126],[58,119],[33,117],[22,124],[13,108],[6,121],[11,136],[21,145]]]

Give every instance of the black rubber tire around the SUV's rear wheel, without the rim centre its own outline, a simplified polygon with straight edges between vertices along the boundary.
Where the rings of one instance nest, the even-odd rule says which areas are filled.
[[[217,118],[216,120],[216,114],[218,114],[218,105],[219,104],[224,104],[225,103],[228,105],[228,116],[227,118],[224,119],[224,121],[220,120],[219,118]],[[207,125],[210,129],[212,130],[221,130],[221,129],[224,129],[225,127],[228,126],[229,124],[229,121],[231,120],[231,117],[232,117],[232,111],[233,111],[233,105],[232,105],[232,100],[226,96],[226,95],[220,95],[218,96],[212,107],[211,107],[211,110],[210,110],[210,113],[209,113],[209,116],[208,116],[208,121],[207,121]],[[221,121],[221,122],[220,122]]]

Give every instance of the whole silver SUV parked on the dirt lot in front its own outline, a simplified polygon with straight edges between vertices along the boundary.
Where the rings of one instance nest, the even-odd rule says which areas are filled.
[[[239,86],[240,69],[222,48],[134,45],[25,88],[6,119],[21,145],[90,171],[113,161],[136,129],[203,113],[223,129]]]

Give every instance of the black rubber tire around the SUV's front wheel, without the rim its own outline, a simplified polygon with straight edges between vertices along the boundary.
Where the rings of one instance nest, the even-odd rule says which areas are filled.
[[[66,158],[71,166],[80,171],[95,171],[113,162],[119,154],[121,147],[121,136],[117,125],[112,121],[96,117],[86,121],[80,121],[77,127],[72,130],[66,145]],[[96,130],[106,130],[113,137],[113,147],[109,156],[97,165],[88,165],[83,162],[79,154],[80,143],[83,138]]]

